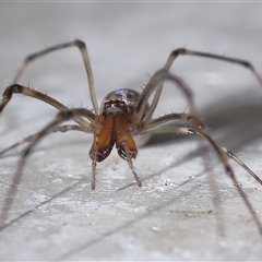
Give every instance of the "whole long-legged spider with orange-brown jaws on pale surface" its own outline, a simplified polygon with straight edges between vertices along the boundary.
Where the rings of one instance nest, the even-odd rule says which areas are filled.
[[[82,53],[82,58],[84,60],[84,66],[87,74],[90,94],[92,105],[94,107],[93,110],[84,109],[84,108],[68,108],[55,98],[43,94],[38,91],[32,90],[26,86],[22,86],[16,84],[20,76],[24,72],[25,68],[29,62],[39,58],[49,52],[63,49],[67,47],[75,46],[80,49]],[[66,44],[60,44],[52,46],[50,48],[44,49],[41,51],[35,52],[24,60],[22,67],[20,68],[16,76],[14,78],[13,84],[8,86],[3,93],[3,99],[0,104],[0,112],[4,109],[7,104],[11,100],[13,94],[23,94],[25,96],[31,96],[36,99],[43,100],[53,107],[56,107],[60,112],[56,116],[53,121],[47,124],[40,132],[29,135],[26,139],[22,140],[19,143],[13,144],[12,146],[0,152],[0,155],[3,155],[8,151],[16,147],[20,144],[28,143],[25,150],[22,152],[21,159],[19,160],[16,172],[14,174],[12,183],[7,192],[7,196],[3,203],[1,216],[0,216],[0,225],[1,228],[5,227],[4,223],[8,217],[9,209],[13,201],[13,195],[16,192],[16,187],[20,183],[22,171],[26,162],[26,158],[32,153],[32,150],[36,146],[36,144],[47,134],[51,132],[67,132],[70,130],[79,130],[86,133],[94,134],[94,142],[90,151],[90,157],[92,159],[92,189],[95,189],[95,179],[96,179],[96,165],[99,162],[103,162],[107,158],[112,150],[116,146],[119,156],[121,156],[124,160],[128,162],[128,165],[134,176],[136,184],[141,187],[141,180],[136,175],[136,171],[133,167],[132,160],[136,157],[138,150],[134,142],[135,135],[142,134],[156,134],[156,133],[178,133],[178,134],[191,134],[191,135],[200,135],[209,141],[209,143],[213,146],[213,148],[218,154],[218,157],[224,165],[226,172],[229,175],[234,184],[239,184],[235,174],[228,164],[227,157],[236,160],[242,168],[245,168],[257,181],[262,184],[262,180],[248,167],[246,166],[239,157],[237,157],[231,151],[229,151],[224,145],[217,143],[212,139],[212,136],[206,131],[204,123],[199,118],[196,108],[194,106],[194,102],[191,95],[189,87],[176,75],[169,72],[169,69],[178,56],[187,55],[187,56],[198,56],[205,57],[212,59],[218,59],[226,62],[237,63],[251,70],[254,76],[258,79],[260,84],[262,85],[262,79],[252,67],[251,63],[245,60],[217,56],[213,53],[199,52],[187,50],[183,48],[176,49],[171,51],[170,56],[167,59],[164,68],[158,70],[153,76],[150,79],[148,83],[144,86],[141,94],[132,90],[117,90],[108,94],[102,103],[102,107],[98,107],[98,103],[96,99],[93,74],[91,69],[91,63],[87,55],[86,46],[81,40],[69,41]],[[179,87],[182,93],[186,95],[189,103],[189,114],[167,114],[163,117],[158,117],[156,119],[152,119],[152,116],[155,111],[155,108],[158,104],[158,99],[160,98],[163,84],[166,81],[171,81]],[[153,94],[153,92],[155,92]],[[148,103],[150,97],[153,96],[151,103]],[[62,122],[68,120],[74,120],[76,124],[66,124],[61,126]],[[164,126],[165,123],[171,121],[183,122],[184,126]],[[242,189],[237,186],[237,190],[241,198],[245,201],[248,210],[253,216],[253,219],[262,235],[262,225],[259,221],[257,214],[253,212],[253,209],[242,191]]]

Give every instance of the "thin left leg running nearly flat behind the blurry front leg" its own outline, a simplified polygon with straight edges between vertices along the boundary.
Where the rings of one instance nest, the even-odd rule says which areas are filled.
[[[68,132],[68,131],[71,131],[71,130],[75,130],[75,131],[82,131],[82,132],[87,132],[85,129],[83,129],[82,127],[78,126],[78,124],[67,124],[67,126],[59,126],[59,127],[53,127],[52,129],[50,129],[47,133],[47,134],[50,134],[50,133],[55,133],[55,132],[61,132],[61,133],[64,133],[64,132]],[[32,135],[28,135],[27,138],[14,143],[13,145],[4,148],[3,151],[0,152],[0,157],[2,155],[4,155],[5,153],[8,153],[9,151],[22,145],[22,144],[25,144],[25,143],[28,143],[31,142],[32,140],[34,140],[34,138],[38,135],[38,133],[35,133],[35,134],[32,134]]]

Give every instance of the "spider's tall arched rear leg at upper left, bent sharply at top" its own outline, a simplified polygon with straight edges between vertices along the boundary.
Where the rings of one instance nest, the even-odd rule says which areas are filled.
[[[49,52],[52,51],[57,51],[59,49],[64,49],[68,47],[78,47],[81,51],[83,61],[84,61],[84,66],[85,66],[85,71],[86,71],[86,75],[87,75],[87,81],[88,81],[88,85],[90,85],[90,94],[91,94],[91,100],[93,104],[93,107],[95,109],[95,112],[98,115],[99,114],[99,107],[98,107],[98,103],[96,99],[96,93],[95,93],[95,87],[94,87],[94,79],[93,79],[93,73],[92,73],[92,68],[91,68],[91,63],[90,63],[90,58],[88,58],[88,52],[87,52],[87,48],[85,46],[85,44],[82,40],[75,39],[73,41],[68,41],[68,43],[63,43],[63,44],[59,44],[49,48],[46,48],[44,50],[34,52],[29,56],[27,56],[24,59],[24,62],[22,63],[22,66],[20,67],[14,80],[13,80],[13,84],[17,83],[19,79],[21,78],[22,73],[24,72],[24,70],[26,69],[26,67],[28,66],[28,63],[31,63],[32,61],[34,61],[35,59],[43,57]]]

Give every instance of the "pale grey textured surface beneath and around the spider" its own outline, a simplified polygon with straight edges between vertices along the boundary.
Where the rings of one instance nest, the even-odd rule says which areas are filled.
[[[87,44],[99,102],[115,88],[139,91],[139,83],[178,47],[247,59],[262,73],[261,12],[258,3],[0,3],[1,92],[26,55],[74,38]],[[262,91],[252,74],[187,57],[171,71],[193,90],[211,133],[261,177]],[[76,48],[33,62],[20,83],[66,105],[91,108]],[[186,106],[180,93],[167,87],[156,116]],[[40,102],[15,96],[0,118],[1,148],[38,131],[55,115]],[[207,176],[216,178],[217,190],[211,189],[202,140],[160,136],[141,148],[134,162],[145,179],[141,189],[117,191],[132,182],[132,175],[114,153],[99,164],[94,192],[91,143],[92,135],[52,134],[29,157],[9,215],[9,222],[19,219],[0,231],[1,260],[262,258],[261,235],[212,151],[205,155],[214,167]],[[17,159],[19,150],[0,159],[1,200]],[[233,166],[262,221],[260,186]],[[213,203],[217,192],[221,209]]]

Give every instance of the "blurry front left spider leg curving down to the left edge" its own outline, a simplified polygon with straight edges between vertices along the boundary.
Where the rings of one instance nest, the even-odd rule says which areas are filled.
[[[12,183],[8,190],[7,196],[4,199],[4,204],[0,214],[0,228],[4,226],[4,222],[8,217],[9,209],[13,202],[13,195],[16,192],[17,186],[22,178],[22,171],[25,166],[26,158],[29,156],[32,150],[39,143],[39,141],[49,133],[50,130],[53,129],[57,124],[62,123],[63,121],[68,121],[71,119],[78,119],[80,117],[86,117],[91,122],[96,122],[97,117],[91,110],[83,108],[74,108],[68,109],[64,111],[58,112],[57,117],[53,121],[51,121],[48,126],[46,126],[39,133],[37,133],[34,139],[29,142],[29,144],[25,147],[22,153],[21,159],[17,164],[16,172],[14,174]]]

